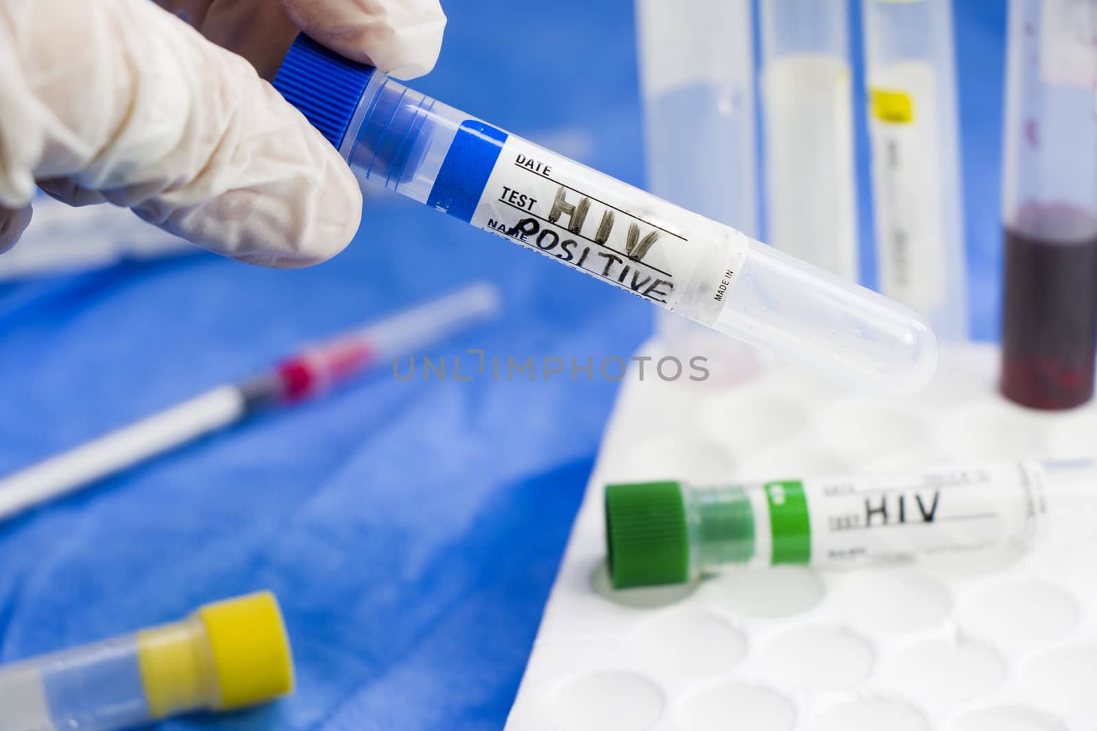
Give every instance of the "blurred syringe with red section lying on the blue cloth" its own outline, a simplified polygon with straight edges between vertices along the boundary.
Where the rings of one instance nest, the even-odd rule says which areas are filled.
[[[167,411],[0,479],[0,521],[118,472],[270,407],[318,396],[388,358],[491,317],[495,287],[476,284],[319,343],[272,370],[218,386]]]

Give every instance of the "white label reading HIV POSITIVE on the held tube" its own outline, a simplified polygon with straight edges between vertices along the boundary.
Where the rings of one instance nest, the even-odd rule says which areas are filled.
[[[748,248],[726,226],[514,135],[471,222],[705,323]]]

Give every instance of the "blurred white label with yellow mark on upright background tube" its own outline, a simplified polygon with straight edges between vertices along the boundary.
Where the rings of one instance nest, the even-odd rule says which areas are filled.
[[[947,294],[948,243],[932,69],[890,67],[869,98],[881,292],[932,316]]]

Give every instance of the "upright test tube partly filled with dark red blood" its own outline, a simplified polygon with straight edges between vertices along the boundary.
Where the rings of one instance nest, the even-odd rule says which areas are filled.
[[[999,388],[1068,409],[1094,390],[1097,0],[1010,0],[1007,66]]]

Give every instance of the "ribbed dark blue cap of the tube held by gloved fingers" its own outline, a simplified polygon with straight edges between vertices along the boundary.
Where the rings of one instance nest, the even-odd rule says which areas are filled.
[[[339,149],[375,71],[302,33],[279,67],[274,88]]]

